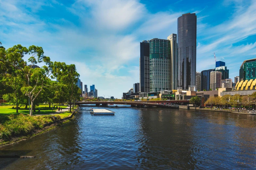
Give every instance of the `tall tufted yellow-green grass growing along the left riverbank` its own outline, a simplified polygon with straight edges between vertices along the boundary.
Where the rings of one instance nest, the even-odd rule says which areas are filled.
[[[34,129],[42,129],[43,124],[53,122],[53,120],[52,116],[1,115],[0,139],[8,140],[17,135],[28,135]]]

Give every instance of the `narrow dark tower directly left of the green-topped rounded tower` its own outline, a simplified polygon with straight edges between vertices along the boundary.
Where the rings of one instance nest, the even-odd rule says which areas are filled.
[[[149,82],[149,41],[140,43],[140,92],[148,93],[150,90]]]

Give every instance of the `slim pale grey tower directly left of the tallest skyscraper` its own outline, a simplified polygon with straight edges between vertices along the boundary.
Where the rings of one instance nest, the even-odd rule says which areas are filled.
[[[171,42],[171,90],[177,90],[178,82],[178,44],[177,34],[171,34],[167,37]]]

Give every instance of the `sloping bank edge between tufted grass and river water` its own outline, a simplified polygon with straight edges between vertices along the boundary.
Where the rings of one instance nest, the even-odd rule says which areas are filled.
[[[23,140],[30,139],[32,137],[42,135],[45,132],[51,131],[56,127],[59,127],[65,123],[68,123],[75,117],[75,114],[76,114],[76,111],[73,111],[73,113],[70,116],[67,116],[65,118],[60,118],[59,120],[56,119],[56,120],[47,122],[43,124],[40,128],[33,129],[28,135],[16,135],[16,136],[14,135],[14,136],[10,136],[8,140],[0,139],[0,147],[12,145],[15,143],[19,143]],[[46,117],[50,118],[50,116],[46,116]],[[54,117],[54,116],[51,116],[51,117]]]

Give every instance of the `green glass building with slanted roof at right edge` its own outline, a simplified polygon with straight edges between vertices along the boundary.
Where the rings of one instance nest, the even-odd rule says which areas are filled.
[[[249,80],[256,78],[256,58],[245,60],[239,70],[239,79]]]

